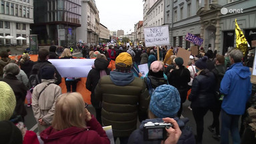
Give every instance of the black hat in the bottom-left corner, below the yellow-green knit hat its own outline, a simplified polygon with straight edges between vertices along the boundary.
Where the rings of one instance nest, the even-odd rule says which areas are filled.
[[[11,121],[0,121],[0,127],[0,143],[23,143],[21,131]]]

